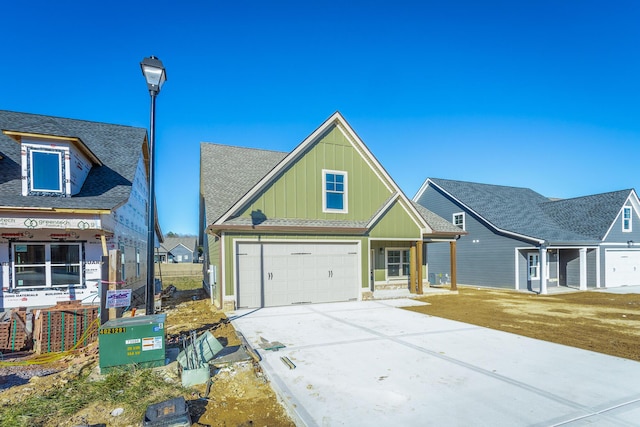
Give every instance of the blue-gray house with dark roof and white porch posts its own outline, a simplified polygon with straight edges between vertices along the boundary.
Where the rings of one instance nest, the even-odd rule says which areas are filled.
[[[457,248],[460,284],[541,293],[640,285],[633,189],[557,200],[528,188],[429,178],[413,200],[468,233]],[[449,271],[439,245],[429,246],[427,262],[430,280]]]

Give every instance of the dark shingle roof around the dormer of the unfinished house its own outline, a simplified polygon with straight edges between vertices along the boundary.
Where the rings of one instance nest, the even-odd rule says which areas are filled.
[[[146,129],[0,110],[0,130],[80,138],[103,163],[72,197],[22,196],[20,144],[0,133],[2,206],[113,209],[129,198]]]

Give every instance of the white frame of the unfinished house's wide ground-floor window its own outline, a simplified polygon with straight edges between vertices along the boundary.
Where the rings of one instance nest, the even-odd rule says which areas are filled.
[[[63,246],[76,246],[78,248],[78,262],[77,263],[54,263],[51,259],[51,245],[63,245]],[[17,264],[16,263],[16,249],[18,246],[44,246],[44,263],[35,264]],[[84,274],[84,245],[83,242],[58,242],[58,241],[45,241],[45,242],[15,242],[11,245],[11,270],[10,270],[10,282],[13,289],[27,290],[27,289],[58,289],[58,288],[74,288],[82,287],[85,280]],[[54,285],[53,282],[53,269],[61,266],[76,266],[78,268],[78,282],[67,283],[64,285]],[[43,285],[19,285],[16,278],[16,269],[20,267],[44,267],[45,283]]]

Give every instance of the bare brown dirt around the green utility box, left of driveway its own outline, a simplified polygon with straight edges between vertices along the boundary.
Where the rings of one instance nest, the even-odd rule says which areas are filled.
[[[216,311],[202,290],[177,291],[173,297],[164,301],[163,312],[167,315],[167,347],[179,342],[180,333],[196,330],[199,333],[210,331],[225,347],[238,346],[240,341],[233,326],[224,313]],[[36,356],[31,356],[31,358]],[[29,360],[24,357],[22,360]],[[34,395],[51,396],[72,393],[69,385],[74,379],[91,372],[89,381],[100,378],[97,344],[94,343],[74,355],[67,356],[55,364],[45,367],[31,365],[24,367],[0,367],[0,386],[3,379],[15,377],[21,371],[21,378],[32,378],[21,385],[4,388],[0,391],[0,426],[11,425],[12,421],[3,420],[3,411],[11,411]],[[175,385],[169,389],[170,396],[160,394],[157,401],[183,396],[188,403],[194,426],[293,426],[293,422],[280,404],[269,381],[255,361],[232,364],[214,372],[213,382],[207,398],[206,385],[188,389],[181,387],[176,362],[160,370],[167,381]],[[57,371],[51,374],[51,371]],[[74,387],[72,387],[73,389]],[[160,397],[162,396],[162,397]],[[157,402],[156,401],[156,402]],[[110,415],[114,405],[96,400],[84,405],[73,416],[64,416],[60,411],[46,416],[31,417],[25,424],[29,426],[138,426],[142,425],[139,414],[132,415],[127,410],[117,418]],[[144,408],[140,408],[144,413]],[[139,411],[140,412],[140,411]]]

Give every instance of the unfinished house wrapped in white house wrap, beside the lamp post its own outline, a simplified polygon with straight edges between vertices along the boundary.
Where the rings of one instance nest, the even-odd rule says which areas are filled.
[[[111,249],[146,283],[147,152],[145,129],[0,111],[0,310],[96,302]]]

